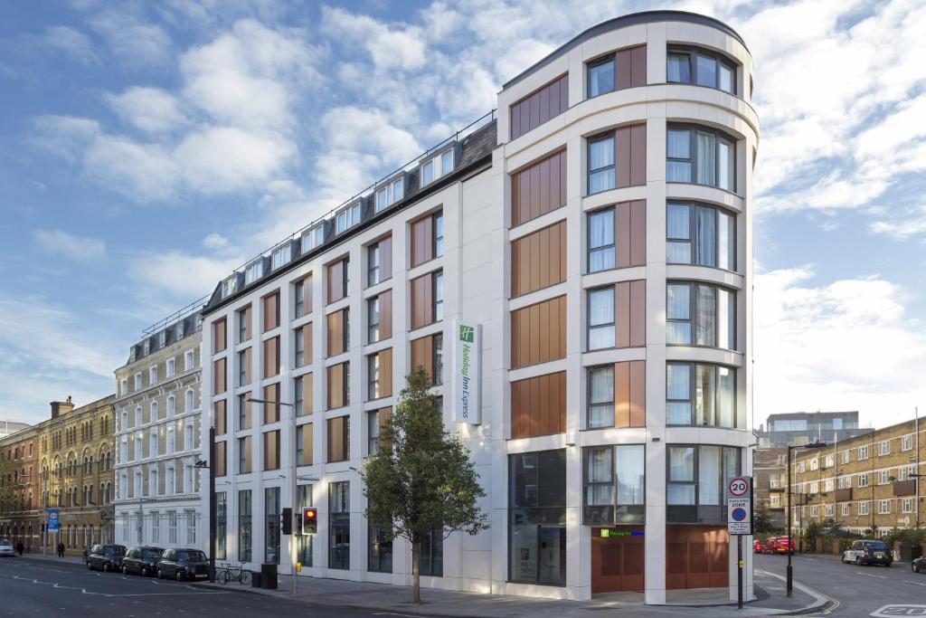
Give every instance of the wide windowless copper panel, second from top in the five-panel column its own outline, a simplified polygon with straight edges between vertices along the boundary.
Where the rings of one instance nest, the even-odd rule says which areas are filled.
[[[566,205],[566,151],[561,150],[511,176],[511,226]]]

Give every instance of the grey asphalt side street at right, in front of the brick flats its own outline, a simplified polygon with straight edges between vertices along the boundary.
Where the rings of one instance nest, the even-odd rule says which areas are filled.
[[[839,602],[829,615],[926,616],[926,574],[913,573],[908,562],[896,561],[886,568],[843,564],[838,556],[799,555],[792,560],[795,581]],[[786,556],[755,557],[755,566],[771,573],[784,575],[786,565]],[[882,610],[885,605],[920,608]]]

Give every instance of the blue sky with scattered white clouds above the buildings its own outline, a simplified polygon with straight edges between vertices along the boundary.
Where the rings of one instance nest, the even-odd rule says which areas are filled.
[[[105,396],[145,326],[650,8],[756,60],[757,423],[926,407],[920,2],[75,0],[0,8],[0,418]]]

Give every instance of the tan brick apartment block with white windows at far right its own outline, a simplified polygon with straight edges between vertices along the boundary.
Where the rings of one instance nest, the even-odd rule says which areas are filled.
[[[810,522],[873,536],[919,526],[926,519],[926,496],[917,476],[926,464],[924,429],[914,419],[825,448],[795,450],[795,534]]]

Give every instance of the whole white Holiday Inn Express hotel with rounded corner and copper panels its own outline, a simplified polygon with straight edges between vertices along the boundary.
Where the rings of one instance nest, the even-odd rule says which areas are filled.
[[[752,84],[745,43],[715,19],[611,19],[507,82],[497,119],[221,282],[203,309],[217,558],[407,584],[409,548],[370,529],[357,470],[421,365],[492,523],[433,536],[424,586],[735,599],[724,505],[752,465]],[[466,418],[461,324],[480,362]],[[308,505],[319,534],[281,536],[282,509]]]

